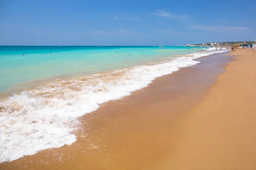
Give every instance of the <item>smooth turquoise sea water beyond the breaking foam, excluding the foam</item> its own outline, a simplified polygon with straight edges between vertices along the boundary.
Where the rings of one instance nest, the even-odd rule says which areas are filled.
[[[182,46],[0,46],[0,93],[35,79],[112,71],[195,51],[199,48],[192,51]]]

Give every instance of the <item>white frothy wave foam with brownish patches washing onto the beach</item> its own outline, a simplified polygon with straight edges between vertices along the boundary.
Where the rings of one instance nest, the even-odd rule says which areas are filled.
[[[223,52],[223,51],[222,51]],[[0,162],[76,142],[77,118],[146,87],[156,77],[199,63],[195,53],[157,65],[142,65],[76,79],[58,79],[0,102]]]

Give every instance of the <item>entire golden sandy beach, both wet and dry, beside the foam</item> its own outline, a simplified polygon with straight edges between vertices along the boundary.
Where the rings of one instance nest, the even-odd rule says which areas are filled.
[[[246,52],[250,55],[254,54],[251,51],[236,51],[233,54],[239,55],[239,52],[243,52],[243,54],[241,53],[243,57],[247,54]],[[236,84],[225,84],[224,81],[238,81],[239,85],[243,85],[243,81],[253,83],[250,82],[253,81],[253,78],[255,81],[255,77],[253,77],[256,70],[255,64],[254,67],[251,66],[251,69],[254,69],[253,75],[248,75],[249,79],[244,78],[252,71],[248,71],[245,64],[253,64],[252,59],[255,57],[243,57],[240,57],[241,59],[237,57],[238,60],[229,64],[227,72],[224,74],[222,74],[223,68],[232,61],[230,56],[215,54],[202,57],[198,59],[201,61],[198,65],[182,68],[173,74],[157,78],[147,88],[136,91],[123,99],[107,102],[97,111],[82,116],[80,118],[81,127],[76,133],[76,143],[57,149],[44,150],[33,156],[25,156],[12,162],[5,162],[0,164],[0,168],[46,170],[228,169],[232,162],[239,164],[237,158],[242,158],[240,167],[253,166],[255,162],[253,164],[253,161],[248,161],[248,158],[254,160],[254,150],[252,149],[251,152],[246,150],[253,148],[251,143],[253,132],[249,129],[244,133],[245,130],[248,130],[244,124],[251,128],[254,127],[250,123],[255,120],[253,110],[250,110],[253,108],[250,105],[253,100],[247,103],[248,106],[251,106],[250,108],[243,107],[241,105],[243,103],[237,102],[239,99],[247,101],[246,95],[242,98],[231,98],[233,105],[237,104],[236,106],[241,108],[240,110],[244,111],[244,114],[251,111],[248,113],[252,114],[245,118],[242,117],[244,118],[242,120],[240,120],[241,117],[233,118],[239,114],[233,115],[234,111],[230,112],[232,103],[226,105],[226,102],[230,100],[230,96],[226,95],[238,95],[238,93],[240,95],[241,90],[236,89],[238,88]],[[256,63],[255,60],[253,61]],[[235,65],[236,67],[232,66],[234,63],[240,63],[237,65],[244,67],[244,70],[247,71],[241,73],[241,70],[237,69],[237,65]],[[233,70],[229,71],[230,68]],[[234,71],[237,73],[233,73]],[[235,75],[239,73],[240,79],[230,77],[230,75],[221,78],[228,73]],[[218,74],[221,75],[216,83]],[[214,91],[218,86],[223,87],[224,91]],[[247,88],[243,89],[247,90]],[[245,90],[243,94],[248,93]],[[248,90],[252,89],[248,88]],[[228,91],[230,94],[227,93]],[[209,95],[217,95],[217,98]],[[254,96],[252,95],[252,97]],[[213,99],[215,100],[212,101]],[[213,105],[207,105],[206,102]],[[244,123],[247,122],[246,118],[250,119],[248,123]],[[236,126],[236,122],[234,123],[232,120],[240,123],[241,126]],[[232,125],[241,128],[234,129],[235,127]],[[221,140],[230,137],[229,134],[234,134],[235,130],[237,134],[231,135],[233,138]],[[239,135],[244,140],[241,140]],[[230,141],[232,141],[231,144]],[[241,142],[239,143],[239,141]],[[248,144],[248,146],[242,144]],[[233,152],[225,151],[231,148],[234,148]],[[236,169],[236,166],[230,166],[230,169],[232,168]],[[247,169],[249,168],[247,167]]]

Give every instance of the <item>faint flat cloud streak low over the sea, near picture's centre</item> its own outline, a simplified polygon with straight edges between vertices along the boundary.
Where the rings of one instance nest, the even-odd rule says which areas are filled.
[[[89,31],[90,34],[96,35],[133,35],[136,34],[131,29],[116,28],[113,31]]]

